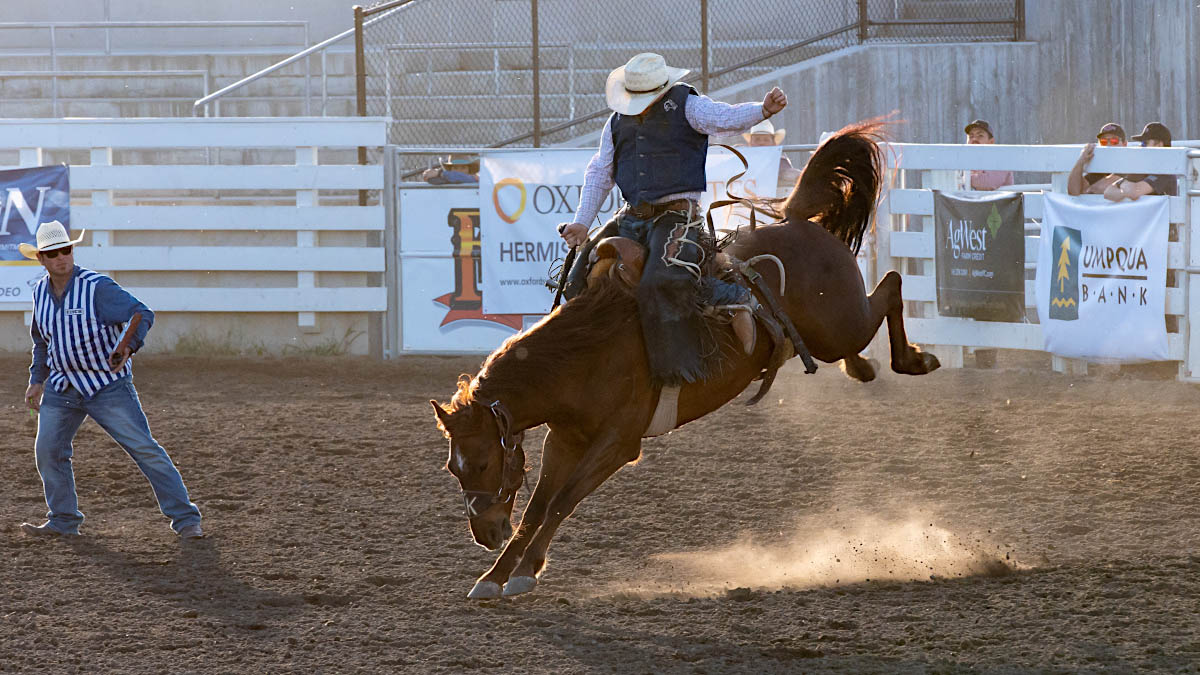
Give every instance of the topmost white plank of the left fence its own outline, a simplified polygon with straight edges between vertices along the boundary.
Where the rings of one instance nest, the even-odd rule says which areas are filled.
[[[0,120],[0,148],[354,148],[386,139],[385,118]]]

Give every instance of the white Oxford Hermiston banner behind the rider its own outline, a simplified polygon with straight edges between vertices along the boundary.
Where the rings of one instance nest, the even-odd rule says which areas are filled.
[[[774,197],[779,147],[739,148],[750,169],[732,189],[739,196]],[[484,155],[479,172],[479,216],[482,233],[484,311],[545,313],[553,293],[546,287],[550,268],[566,255],[556,227],[570,222],[580,204],[583,172],[595,151],[511,150]],[[725,198],[725,181],[743,171],[728,150],[709,149],[708,191],[702,203]],[[600,223],[620,205],[617,189],[601,204]],[[736,227],[737,215],[714,214],[716,227]],[[744,221],[743,221],[744,222]],[[595,227],[598,223],[589,223]]]

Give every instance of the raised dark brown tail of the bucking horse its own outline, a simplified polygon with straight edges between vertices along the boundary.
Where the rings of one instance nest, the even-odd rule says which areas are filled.
[[[788,222],[812,220],[858,255],[883,184],[887,123],[872,119],[842,127],[822,143],[784,202]]]

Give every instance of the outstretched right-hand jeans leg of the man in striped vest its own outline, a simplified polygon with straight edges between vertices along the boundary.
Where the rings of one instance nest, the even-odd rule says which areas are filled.
[[[84,402],[88,414],[128,453],[138,468],[150,480],[162,514],[170,519],[170,527],[179,532],[200,522],[200,509],[187,496],[184,478],[167,450],[150,435],[150,424],[142,411],[132,377],[122,377],[101,389]]]

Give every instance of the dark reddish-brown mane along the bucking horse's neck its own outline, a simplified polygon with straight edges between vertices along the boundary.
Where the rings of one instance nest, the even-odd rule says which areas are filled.
[[[594,363],[588,357],[629,330],[631,318],[634,327],[641,325],[636,321],[637,300],[625,287],[608,279],[594,282],[528,330],[505,340],[475,377],[460,377],[450,412],[527,390],[539,381],[558,376],[568,363]]]

